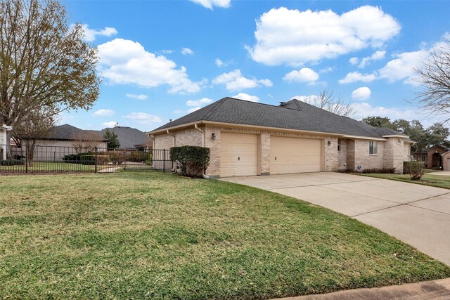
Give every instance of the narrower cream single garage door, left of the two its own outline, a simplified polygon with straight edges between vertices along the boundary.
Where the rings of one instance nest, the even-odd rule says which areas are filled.
[[[257,175],[257,136],[220,134],[220,176]]]

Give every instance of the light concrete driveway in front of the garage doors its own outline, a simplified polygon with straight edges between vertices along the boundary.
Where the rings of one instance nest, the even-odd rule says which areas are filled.
[[[333,209],[450,266],[450,190],[332,172],[221,180]]]

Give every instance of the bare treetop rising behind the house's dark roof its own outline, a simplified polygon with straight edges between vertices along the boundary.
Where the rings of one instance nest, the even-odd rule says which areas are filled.
[[[305,102],[342,117],[353,117],[356,114],[353,103],[335,97],[334,92],[327,89],[323,89],[319,96],[305,98]]]

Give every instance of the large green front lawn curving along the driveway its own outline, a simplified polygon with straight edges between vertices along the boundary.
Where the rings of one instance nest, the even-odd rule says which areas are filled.
[[[450,277],[347,216],[157,172],[0,177],[0,298],[266,299]]]

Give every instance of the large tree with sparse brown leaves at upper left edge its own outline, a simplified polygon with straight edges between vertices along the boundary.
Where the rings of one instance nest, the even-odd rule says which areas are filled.
[[[94,104],[97,50],[83,38],[58,0],[0,1],[0,124],[14,131],[33,111],[56,115]]]

